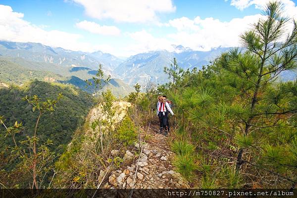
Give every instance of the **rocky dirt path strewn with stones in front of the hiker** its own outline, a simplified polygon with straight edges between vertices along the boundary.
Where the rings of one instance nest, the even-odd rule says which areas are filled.
[[[139,157],[141,150],[136,143],[124,157],[124,161],[130,161],[130,163],[126,163],[119,170],[112,171],[104,188],[189,188],[182,176],[174,171],[172,165],[174,154],[169,149],[168,137],[157,134],[157,131],[157,123],[144,128],[141,139],[147,139],[147,141],[141,142],[142,154]],[[117,151],[113,150],[111,153],[116,155]]]

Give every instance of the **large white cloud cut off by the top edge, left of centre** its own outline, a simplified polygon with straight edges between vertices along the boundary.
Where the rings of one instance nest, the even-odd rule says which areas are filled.
[[[73,0],[97,19],[144,23],[157,21],[157,13],[174,12],[172,0]]]

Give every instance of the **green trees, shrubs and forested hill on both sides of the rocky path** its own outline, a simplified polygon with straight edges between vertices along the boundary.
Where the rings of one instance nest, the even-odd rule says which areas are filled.
[[[285,34],[291,19],[283,17],[277,1],[262,14],[241,35],[243,48],[222,53],[202,69],[183,70],[174,58],[160,66],[168,83],[137,83],[125,98],[103,87],[111,79],[100,67],[86,81],[93,95],[39,80],[0,88],[2,187],[111,183],[110,172],[133,162],[127,152],[151,138],[145,131],[158,125],[157,97],[166,95],[175,114],[166,139],[174,153],[170,163],[191,188],[297,188],[297,79],[279,79],[297,70],[297,23]],[[117,105],[124,102],[131,106],[117,121]],[[92,108],[99,118],[92,119]],[[136,151],[135,159],[141,155]]]

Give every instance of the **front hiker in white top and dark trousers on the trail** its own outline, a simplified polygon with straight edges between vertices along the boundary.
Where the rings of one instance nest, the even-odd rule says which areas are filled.
[[[164,135],[168,135],[168,127],[167,127],[167,119],[168,119],[168,112],[173,116],[174,113],[172,112],[169,103],[163,98],[163,96],[158,96],[158,103],[157,103],[157,116],[159,117],[160,121],[160,131],[159,133],[162,134],[163,129],[165,131]]]

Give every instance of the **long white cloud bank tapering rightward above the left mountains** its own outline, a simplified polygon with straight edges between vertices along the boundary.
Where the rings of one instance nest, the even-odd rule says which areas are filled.
[[[112,47],[106,45],[92,45],[82,42],[79,34],[71,34],[58,30],[46,31],[41,27],[23,20],[24,14],[13,12],[7,5],[0,5],[0,40],[15,42],[40,42],[52,47],[63,47],[71,50],[95,51],[104,49],[111,52]]]

